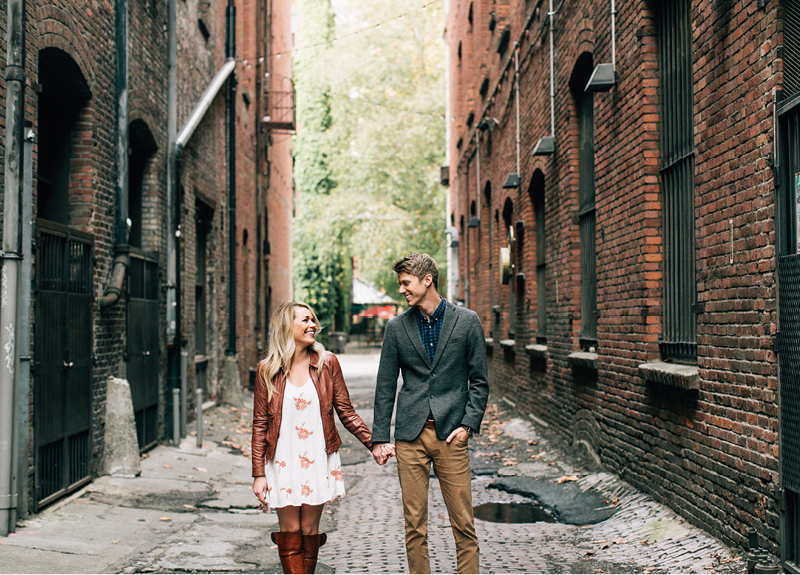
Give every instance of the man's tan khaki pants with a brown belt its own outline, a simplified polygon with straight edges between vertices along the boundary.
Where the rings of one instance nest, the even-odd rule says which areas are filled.
[[[397,441],[397,473],[403,493],[406,554],[411,573],[430,573],[428,558],[428,483],[431,462],[442,488],[456,540],[459,573],[478,573],[478,536],[472,513],[472,474],[467,442],[449,444],[424,427],[414,441]]]

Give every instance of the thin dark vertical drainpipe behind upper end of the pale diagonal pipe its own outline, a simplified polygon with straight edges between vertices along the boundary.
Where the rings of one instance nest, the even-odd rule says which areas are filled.
[[[236,58],[236,6],[228,0],[228,42],[225,49],[227,62]],[[228,82],[228,353],[236,355],[236,78]]]

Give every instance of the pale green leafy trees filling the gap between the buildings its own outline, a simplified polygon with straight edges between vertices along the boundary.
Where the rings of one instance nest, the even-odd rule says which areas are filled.
[[[424,3],[335,0],[335,30],[330,0],[297,3],[296,295],[339,331],[351,256],[395,297],[406,253],[429,253],[446,277],[444,15]]]

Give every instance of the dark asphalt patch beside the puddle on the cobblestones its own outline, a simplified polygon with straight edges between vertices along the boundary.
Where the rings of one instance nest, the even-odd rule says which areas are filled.
[[[567,525],[593,525],[605,521],[617,511],[596,491],[581,491],[575,483],[551,483],[533,477],[503,477],[488,485],[506,493],[522,495],[536,501]]]

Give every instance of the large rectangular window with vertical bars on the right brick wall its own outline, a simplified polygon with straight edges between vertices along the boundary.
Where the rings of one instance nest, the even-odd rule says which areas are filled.
[[[660,4],[661,185],[664,229],[664,333],[661,354],[697,360],[694,236],[694,89],[689,0]]]

